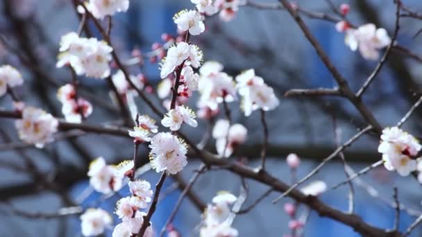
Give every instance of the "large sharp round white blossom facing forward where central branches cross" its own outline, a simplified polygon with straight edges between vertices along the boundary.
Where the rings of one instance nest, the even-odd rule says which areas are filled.
[[[187,164],[185,142],[169,132],[156,134],[151,139],[149,148],[151,166],[157,172],[167,170],[167,173],[174,175]]]

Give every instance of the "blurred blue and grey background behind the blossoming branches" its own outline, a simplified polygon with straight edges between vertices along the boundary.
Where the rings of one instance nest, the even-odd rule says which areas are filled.
[[[255,3],[276,3],[277,1],[259,1]],[[333,0],[336,6],[341,3],[351,5],[348,15],[356,25],[374,23],[386,28],[389,35],[394,30],[393,1],[387,0]],[[326,12],[334,15],[327,1],[296,1],[301,8]],[[403,1],[406,6],[422,11],[422,2]],[[188,0],[144,0],[130,1],[126,13],[113,17],[112,41],[121,58],[132,58],[133,49],[150,51],[151,44],[160,42],[162,33],[176,34],[173,15],[183,8],[193,8]],[[61,104],[56,99],[58,87],[71,82],[67,69],[56,69],[56,55],[60,36],[78,28],[78,16],[71,1],[65,0],[3,0],[0,2],[0,34],[8,46],[0,43],[0,64],[12,64],[24,75],[24,86],[17,89],[17,94],[27,105],[41,107],[53,116],[62,117]],[[335,30],[335,24],[320,19],[304,17],[312,33],[322,44],[332,62],[348,79],[353,90],[361,87],[377,62],[364,60],[344,44],[344,34]],[[397,41],[422,55],[421,38],[414,37],[422,27],[422,21],[410,18],[400,20]],[[205,60],[221,62],[228,74],[236,76],[244,69],[254,68],[271,85],[280,98],[280,106],[267,115],[270,129],[268,155],[269,173],[289,183],[291,179],[285,157],[296,153],[302,158],[298,177],[306,175],[316,164],[335,150],[335,132],[337,125],[341,143],[348,140],[358,128],[366,123],[355,107],[347,100],[332,97],[283,98],[287,89],[334,87],[335,80],[318,58],[312,46],[305,40],[287,12],[282,10],[260,10],[242,6],[233,21],[224,22],[218,16],[205,21],[207,30],[199,37],[192,37],[192,42],[203,50]],[[90,26],[92,33],[100,38],[98,32]],[[13,49],[13,50],[10,50]],[[21,58],[19,58],[19,56]],[[22,57],[26,62],[22,62]],[[133,74],[144,73],[155,87],[159,78],[158,64],[145,62],[144,67],[129,67]],[[387,64],[369,87],[363,97],[364,103],[373,111],[381,125],[395,125],[412,104],[421,96],[422,67],[419,60],[403,53],[392,52]],[[108,85],[103,80],[81,78],[80,85],[85,97],[94,105],[93,114],[86,123],[99,124],[118,121],[117,107],[109,96]],[[151,94],[157,105],[160,101]],[[140,99],[136,99],[142,114],[153,116],[151,110]],[[192,100],[192,102],[194,99]],[[8,96],[0,98],[1,109],[12,109],[12,100]],[[195,107],[194,103],[190,104]],[[253,113],[245,117],[238,109],[239,103],[231,103],[233,121],[248,128],[248,139],[231,159],[246,159],[250,166],[260,164],[260,144],[262,128],[260,114]],[[220,117],[224,115],[219,114]],[[154,119],[158,120],[158,118]],[[416,137],[421,137],[422,109],[416,109],[410,120],[403,126]],[[200,141],[206,130],[205,121],[199,120],[199,128],[183,128],[194,141]],[[198,132],[203,131],[203,132]],[[130,159],[133,155],[133,143],[130,139],[112,137],[105,134],[85,134],[80,137],[60,139],[48,144],[43,149],[23,146],[19,142],[14,122],[0,118],[0,236],[81,236],[78,216],[66,218],[35,218],[17,215],[10,207],[28,213],[53,213],[76,202],[87,189],[87,166],[92,159],[102,156],[109,163]],[[378,137],[364,135],[346,150],[345,157],[354,170],[360,170],[378,161]],[[12,149],[16,148],[16,149]],[[214,151],[211,139],[207,148]],[[143,162],[147,161],[146,147],[142,147]],[[40,173],[54,184],[56,191],[46,187],[39,177],[25,171],[24,162],[31,159]],[[197,157],[189,157],[187,168],[182,176],[188,180],[200,162]],[[149,171],[142,175],[155,184],[159,175]],[[339,159],[335,159],[321,170],[313,179],[322,179],[328,186],[344,180],[344,170]],[[355,186],[355,211],[372,225],[392,228],[394,209],[389,204],[393,201],[393,188],[398,187],[398,197],[402,204],[414,212],[401,212],[400,230],[405,230],[422,212],[422,188],[416,179],[399,177],[382,166],[362,176],[361,185]],[[375,188],[376,192],[368,188]],[[210,202],[220,190],[239,194],[241,179],[224,170],[215,170],[201,175],[193,190],[203,202]],[[267,191],[266,186],[248,181],[249,196],[244,204],[248,207],[254,200]],[[53,188],[53,189],[54,189]],[[59,194],[60,195],[59,195]],[[65,195],[63,195],[63,193]],[[153,216],[153,226],[160,231],[167,216],[174,207],[180,192],[174,188],[171,180],[164,184],[164,199],[158,205]],[[127,188],[120,191],[128,195]],[[348,186],[329,190],[322,195],[326,203],[346,211],[348,209]],[[374,198],[373,195],[378,196]],[[63,198],[67,196],[68,198]],[[289,217],[282,209],[288,198],[272,204],[278,193],[271,193],[255,209],[235,219],[234,227],[239,236],[276,237],[289,234]],[[101,199],[98,193],[91,193],[81,207],[103,207],[114,210],[118,198]],[[301,209],[302,210],[302,209]],[[413,214],[413,216],[412,216]],[[115,220],[117,222],[117,219]],[[201,212],[186,199],[176,216],[174,227],[183,236],[198,236],[197,226],[201,221]],[[107,236],[111,236],[110,229]],[[305,236],[358,236],[353,229],[327,218],[320,218],[310,213],[305,226]],[[416,229],[412,236],[422,236],[422,229]]]

